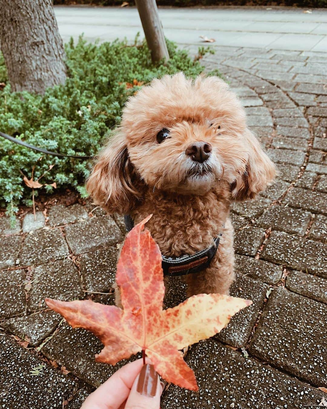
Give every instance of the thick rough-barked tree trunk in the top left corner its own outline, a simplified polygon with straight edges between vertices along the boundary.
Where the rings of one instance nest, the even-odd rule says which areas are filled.
[[[1,51],[12,91],[64,83],[65,51],[52,0],[0,0]]]

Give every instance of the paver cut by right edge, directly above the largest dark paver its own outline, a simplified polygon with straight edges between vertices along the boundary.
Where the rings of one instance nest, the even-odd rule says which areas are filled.
[[[291,271],[285,286],[293,292],[327,303],[327,280],[301,271]]]

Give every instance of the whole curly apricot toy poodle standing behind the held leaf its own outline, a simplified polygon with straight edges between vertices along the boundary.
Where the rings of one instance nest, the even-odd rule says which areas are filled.
[[[192,80],[178,73],[130,97],[87,190],[110,213],[127,215],[129,228],[153,214],[147,228],[164,274],[185,275],[188,296],[228,294],[230,204],[254,198],[274,177],[275,166],[228,85],[215,76]]]

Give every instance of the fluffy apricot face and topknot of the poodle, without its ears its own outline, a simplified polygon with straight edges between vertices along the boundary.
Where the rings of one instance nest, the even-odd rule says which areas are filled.
[[[244,173],[245,130],[244,110],[224,81],[182,74],[139,91],[121,123],[130,161],[150,188],[197,195]]]

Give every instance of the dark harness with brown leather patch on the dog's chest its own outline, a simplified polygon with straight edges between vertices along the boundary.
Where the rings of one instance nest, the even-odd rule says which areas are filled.
[[[125,215],[125,227],[127,231],[132,230],[134,221],[129,215]],[[223,226],[224,227],[224,226]],[[195,274],[208,267],[217,252],[220,237],[222,233],[213,240],[213,244],[204,250],[196,252],[192,255],[181,257],[162,257],[162,270],[165,276],[176,277],[186,274]]]

